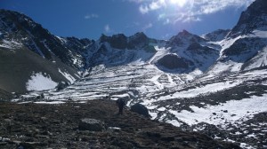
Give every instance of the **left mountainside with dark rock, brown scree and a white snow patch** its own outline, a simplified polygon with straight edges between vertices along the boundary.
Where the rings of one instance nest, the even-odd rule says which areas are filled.
[[[0,10],[0,33],[1,89],[48,90],[79,78],[71,51],[27,16]]]

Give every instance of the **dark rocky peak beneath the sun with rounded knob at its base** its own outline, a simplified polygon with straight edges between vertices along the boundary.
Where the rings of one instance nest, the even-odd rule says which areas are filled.
[[[190,73],[196,69],[205,72],[219,58],[218,46],[208,40],[183,30],[166,42],[168,54],[153,59],[162,70],[174,73]]]

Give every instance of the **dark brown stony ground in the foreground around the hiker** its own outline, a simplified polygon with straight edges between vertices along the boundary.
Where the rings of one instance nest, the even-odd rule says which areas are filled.
[[[239,148],[125,110],[110,100],[61,105],[0,104],[0,148]],[[81,129],[96,119],[104,128]]]

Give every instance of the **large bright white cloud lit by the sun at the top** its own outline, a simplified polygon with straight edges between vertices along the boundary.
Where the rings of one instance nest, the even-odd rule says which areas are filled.
[[[142,14],[159,11],[158,20],[164,24],[177,21],[201,21],[203,15],[227,8],[247,7],[255,0],[128,0],[140,4]],[[164,13],[163,13],[164,12]],[[163,15],[164,14],[164,15]]]

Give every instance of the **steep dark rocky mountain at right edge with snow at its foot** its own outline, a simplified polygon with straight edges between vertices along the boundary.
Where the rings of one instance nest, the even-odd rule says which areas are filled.
[[[211,67],[211,74],[213,74],[214,68],[223,66],[227,66],[226,71],[230,72],[265,66],[263,52],[267,46],[266,6],[266,1],[256,0],[248,6],[247,11],[242,12],[238,24],[220,42],[222,45],[221,56]],[[223,70],[223,72],[225,71]]]

